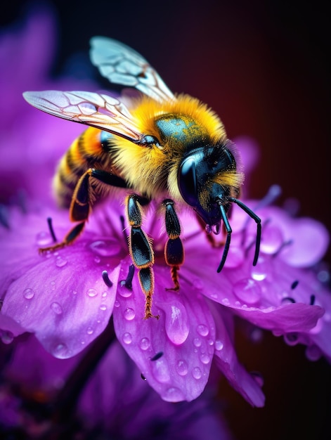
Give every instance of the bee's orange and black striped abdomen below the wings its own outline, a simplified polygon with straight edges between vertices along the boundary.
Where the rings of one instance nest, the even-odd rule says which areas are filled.
[[[60,160],[53,179],[53,188],[60,207],[70,207],[74,188],[87,169],[110,169],[110,138],[111,134],[89,127],[70,145]]]

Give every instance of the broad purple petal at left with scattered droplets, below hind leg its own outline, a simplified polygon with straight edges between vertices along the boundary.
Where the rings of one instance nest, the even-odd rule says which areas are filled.
[[[103,268],[84,240],[39,256],[38,264],[11,283],[1,316],[34,332],[53,356],[74,356],[103,332],[112,314],[119,267],[108,273],[112,287],[103,281]],[[0,325],[6,330],[4,321]]]

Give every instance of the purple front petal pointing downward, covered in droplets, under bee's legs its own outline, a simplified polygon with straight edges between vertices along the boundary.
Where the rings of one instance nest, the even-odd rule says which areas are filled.
[[[129,259],[123,267],[128,267]],[[126,269],[127,271],[127,269]],[[122,271],[119,278],[125,278]],[[117,292],[114,324],[117,338],[148,383],[166,401],[191,401],[209,377],[215,325],[205,300],[186,280],[171,292],[167,268],[155,268],[152,311],[160,319],[143,321],[145,297],[136,280],[130,292]],[[125,287],[124,287],[125,289]]]

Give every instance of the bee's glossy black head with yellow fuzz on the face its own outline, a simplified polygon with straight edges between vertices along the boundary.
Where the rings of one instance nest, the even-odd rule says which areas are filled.
[[[243,181],[232,153],[233,144],[225,141],[190,150],[181,161],[179,191],[209,226],[219,227],[222,219],[219,205],[228,211],[229,197],[237,197]]]

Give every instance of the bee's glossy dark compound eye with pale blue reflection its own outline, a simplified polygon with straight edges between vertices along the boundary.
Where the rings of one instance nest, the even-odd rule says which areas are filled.
[[[179,167],[179,191],[188,205],[197,205],[197,173],[193,157],[186,157]]]

